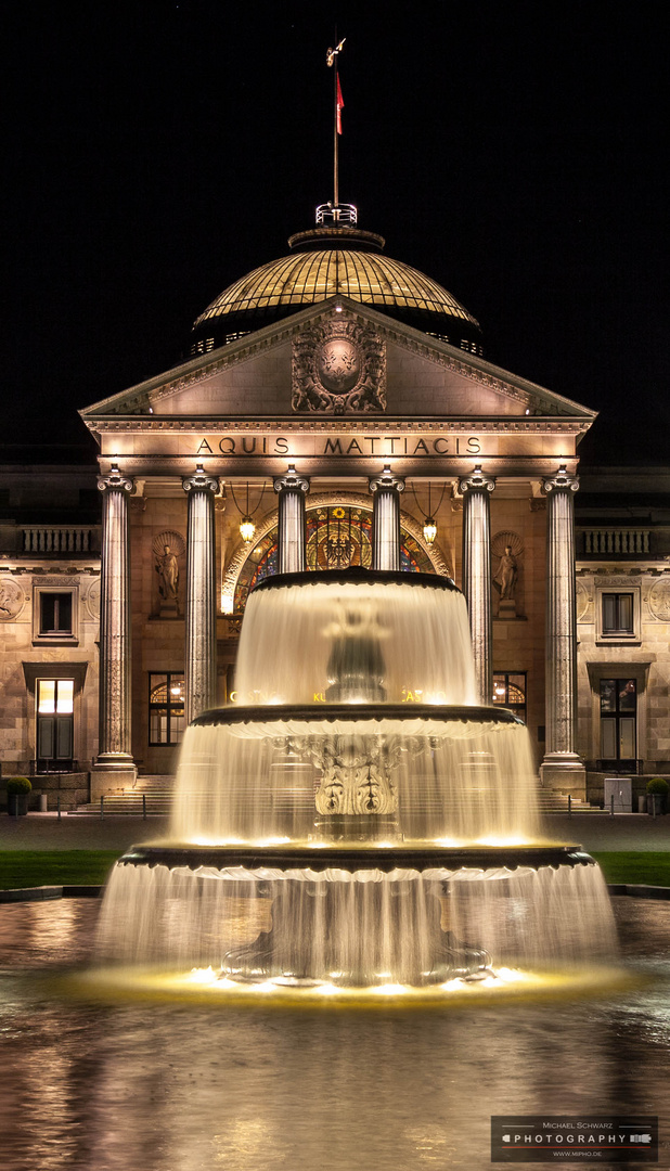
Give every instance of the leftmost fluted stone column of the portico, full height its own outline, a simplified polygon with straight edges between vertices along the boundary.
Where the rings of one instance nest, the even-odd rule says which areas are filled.
[[[100,740],[91,799],[132,783],[130,720],[130,564],[128,497],[134,481],[114,464],[100,475],[102,552],[100,600]]]

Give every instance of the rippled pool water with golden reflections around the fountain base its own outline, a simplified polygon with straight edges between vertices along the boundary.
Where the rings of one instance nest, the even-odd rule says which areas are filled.
[[[615,902],[624,952],[659,975],[635,993],[323,1015],[55,999],[33,972],[86,958],[97,905],[5,908],[4,1171],[484,1171],[492,1114],[663,1117],[670,906]]]

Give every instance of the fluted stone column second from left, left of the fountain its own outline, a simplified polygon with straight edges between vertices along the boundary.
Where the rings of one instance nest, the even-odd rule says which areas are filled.
[[[216,477],[198,465],[183,479],[189,494],[184,677],[186,724],[217,704]]]

